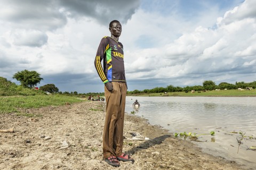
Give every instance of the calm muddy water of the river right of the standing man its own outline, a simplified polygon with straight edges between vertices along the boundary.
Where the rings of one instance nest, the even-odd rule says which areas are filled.
[[[215,132],[215,137],[202,135],[196,142],[204,151],[222,156],[238,163],[256,167],[256,151],[247,150],[255,146],[254,140],[243,140],[241,136],[256,137],[256,98],[255,97],[126,97],[126,112],[134,111],[132,104],[138,99],[140,107],[135,115],[145,117],[150,124],[161,125],[171,133]],[[239,136],[240,135],[240,136]],[[187,139],[188,140],[188,139]]]

